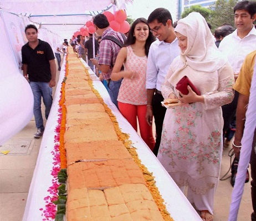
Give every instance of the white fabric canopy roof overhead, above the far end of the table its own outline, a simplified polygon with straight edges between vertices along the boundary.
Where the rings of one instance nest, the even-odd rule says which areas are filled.
[[[0,9],[26,17],[62,38],[71,38],[96,14],[126,9],[131,3],[132,0],[0,0]]]

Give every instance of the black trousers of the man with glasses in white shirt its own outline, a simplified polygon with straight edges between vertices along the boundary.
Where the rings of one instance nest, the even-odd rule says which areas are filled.
[[[153,149],[153,154],[155,154],[156,156],[161,143],[163,119],[165,118],[165,112],[166,112],[166,108],[162,106],[161,101],[163,101],[162,94],[155,93],[152,99],[152,110],[153,110],[153,116],[155,118],[155,125],[156,125],[156,144]]]

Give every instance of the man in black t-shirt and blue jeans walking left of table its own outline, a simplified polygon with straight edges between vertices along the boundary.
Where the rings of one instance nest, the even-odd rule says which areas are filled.
[[[25,35],[28,43],[22,47],[23,75],[29,81],[34,95],[34,117],[37,127],[34,138],[40,138],[44,132],[41,99],[43,97],[46,119],[53,102],[52,87],[56,85],[55,57],[50,45],[38,39],[35,25],[27,25]]]

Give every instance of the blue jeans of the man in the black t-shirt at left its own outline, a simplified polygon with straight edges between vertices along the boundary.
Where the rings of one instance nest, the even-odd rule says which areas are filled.
[[[50,108],[53,103],[53,89],[49,86],[48,82],[34,82],[30,81],[29,85],[34,95],[34,116],[35,116],[35,127],[44,130],[44,121],[41,111],[41,99],[45,105],[45,118],[48,119]]]

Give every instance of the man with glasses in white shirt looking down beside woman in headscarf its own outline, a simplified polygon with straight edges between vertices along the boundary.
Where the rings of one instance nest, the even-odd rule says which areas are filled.
[[[155,118],[156,125],[156,144],[153,153],[157,155],[162,134],[163,119],[165,118],[166,108],[162,107],[161,93],[162,83],[173,59],[180,55],[178,40],[172,26],[171,13],[165,8],[157,8],[147,19],[150,31],[158,40],[150,46],[149,56],[147,57],[147,123],[152,125]]]

